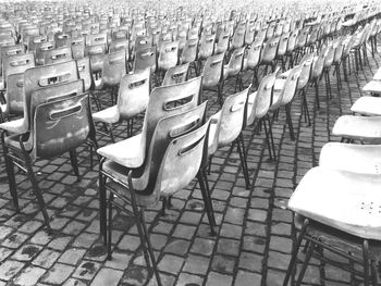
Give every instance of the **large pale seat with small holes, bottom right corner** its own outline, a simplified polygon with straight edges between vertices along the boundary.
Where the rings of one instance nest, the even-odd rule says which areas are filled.
[[[345,233],[381,239],[381,176],[314,167],[288,200],[296,213]]]

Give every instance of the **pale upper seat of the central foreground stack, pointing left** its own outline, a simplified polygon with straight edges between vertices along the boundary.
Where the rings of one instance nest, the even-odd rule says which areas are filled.
[[[99,148],[97,152],[125,167],[139,167],[145,161],[145,144],[142,134]]]

